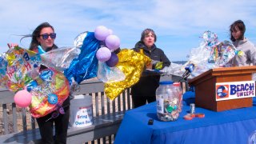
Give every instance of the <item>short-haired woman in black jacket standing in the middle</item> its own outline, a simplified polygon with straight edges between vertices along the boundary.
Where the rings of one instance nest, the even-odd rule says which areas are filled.
[[[162,68],[170,66],[170,60],[164,52],[154,45],[157,41],[157,36],[154,30],[146,29],[142,31],[141,41],[137,42],[134,50],[137,52],[143,51],[146,56],[154,62],[162,62]],[[154,64],[146,66],[146,69],[154,70]],[[131,87],[131,95],[134,102],[134,108],[143,106],[146,102],[155,102],[155,91],[159,86],[160,74],[150,74],[146,70],[142,73],[139,82]]]

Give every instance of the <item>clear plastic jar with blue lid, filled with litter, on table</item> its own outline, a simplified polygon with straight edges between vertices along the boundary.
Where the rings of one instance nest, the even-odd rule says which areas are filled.
[[[156,90],[157,114],[160,121],[168,122],[178,119],[179,98],[174,82],[163,81]]]

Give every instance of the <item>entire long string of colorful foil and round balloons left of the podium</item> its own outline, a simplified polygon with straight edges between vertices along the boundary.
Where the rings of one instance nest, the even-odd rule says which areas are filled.
[[[29,106],[40,118],[58,110],[73,92],[70,87],[89,78],[105,82],[104,92],[113,100],[138,82],[151,62],[145,54],[121,50],[120,39],[106,26],[79,34],[74,45],[48,52],[39,46],[38,54],[15,46],[0,54],[0,86],[17,92],[17,106]]]

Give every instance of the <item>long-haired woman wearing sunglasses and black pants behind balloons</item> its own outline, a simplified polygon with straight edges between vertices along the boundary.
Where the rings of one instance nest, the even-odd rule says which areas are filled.
[[[32,33],[32,40],[30,43],[30,50],[34,52],[45,52],[57,49],[58,46],[54,44],[56,34],[54,33],[54,27],[50,26],[48,22],[40,24]],[[41,66],[40,70],[46,69],[46,66]],[[42,137],[42,143],[66,143],[66,134],[69,125],[70,118],[70,98],[66,98],[63,102],[61,110],[54,111],[47,114],[44,117],[37,118],[40,134]],[[56,113],[57,112],[57,113]],[[53,127],[55,126],[55,138],[53,136]]]

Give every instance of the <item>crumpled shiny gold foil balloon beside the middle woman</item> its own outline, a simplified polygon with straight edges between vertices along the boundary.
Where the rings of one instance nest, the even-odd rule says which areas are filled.
[[[134,50],[123,49],[118,53],[119,62],[116,67],[126,75],[125,80],[120,82],[105,83],[105,94],[113,100],[124,90],[138,82],[145,66],[151,60],[145,54],[137,53]]]

